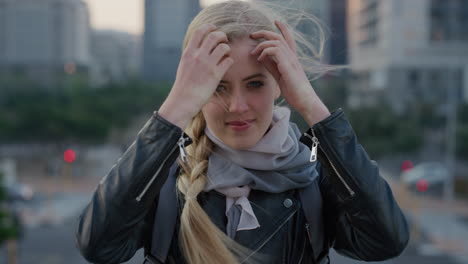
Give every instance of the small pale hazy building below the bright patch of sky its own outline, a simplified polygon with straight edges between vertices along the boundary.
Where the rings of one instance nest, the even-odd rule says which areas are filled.
[[[140,74],[140,36],[114,30],[94,30],[91,54],[91,81],[96,86],[127,81]]]

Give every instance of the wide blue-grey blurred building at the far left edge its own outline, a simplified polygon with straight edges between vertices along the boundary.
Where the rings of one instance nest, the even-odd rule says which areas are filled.
[[[0,0],[0,73],[44,84],[86,73],[89,28],[82,0]]]

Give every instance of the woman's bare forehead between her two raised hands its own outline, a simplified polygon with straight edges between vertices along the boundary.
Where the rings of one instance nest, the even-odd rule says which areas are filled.
[[[223,76],[223,80],[235,81],[255,73],[265,75],[268,73],[263,64],[257,61],[259,54],[255,56],[250,54],[257,44],[257,41],[250,38],[242,38],[229,43],[231,47],[229,56],[234,59],[234,64]]]

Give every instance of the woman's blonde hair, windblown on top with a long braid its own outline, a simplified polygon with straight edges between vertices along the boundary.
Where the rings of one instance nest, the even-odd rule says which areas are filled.
[[[328,71],[327,66],[320,63],[323,54],[324,31],[318,20],[297,9],[280,7],[281,13],[258,2],[239,0],[221,2],[204,8],[191,22],[183,42],[187,46],[194,32],[203,24],[213,24],[216,30],[226,33],[229,42],[258,30],[278,32],[274,20],[289,24],[297,43],[297,54],[309,78],[317,78]],[[292,21],[292,22],[291,22]],[[306,38],[295,27],[303,21],[312,22],[316,27],[314,39]],[[318,49],[315,48],[318,43]],[[312,53],[312,54],[311,54]],[[208,157],[213,143],[205,135],[206,122],[203,114],[198,113],[186,128],[186,133],[193,143],[186,148],[188,162],[179,160],[182,167],[177,181],[177,188],[185,196],[185,205],[181,214],[180,246],[190,264],[234,264],[248,259],[252,252],[235,243],[227,237],[210,220],[197,201],[197,196],[205,187],[208,168]]]

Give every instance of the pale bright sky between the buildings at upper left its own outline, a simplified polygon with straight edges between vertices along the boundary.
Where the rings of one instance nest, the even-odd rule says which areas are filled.
[[[83,0],[88,4],[91,26],[133,34],[143,32],[144,0]],[[201,0],[204,6],[223,0]]]

